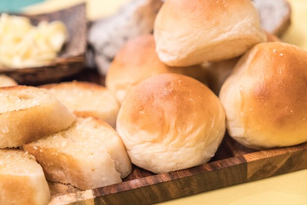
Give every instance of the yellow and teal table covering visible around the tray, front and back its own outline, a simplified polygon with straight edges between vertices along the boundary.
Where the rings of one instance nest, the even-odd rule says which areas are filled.
[[[83,1],[88,2],[88,18],[93,20],[107,16],[129,0],[0,0],[0,11],[20,11],[39,13],[54,11]],[[292,7],[292,24],[282,37],[287,43],[298,45],[307,50],[307,0],[288,0]],[[238,184],[222,189],[184,197],[161,205],[307,205],[307,169]]]

